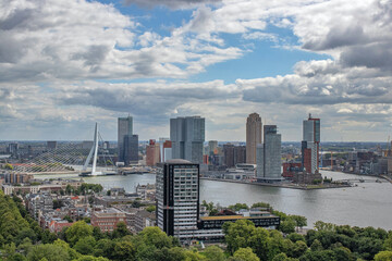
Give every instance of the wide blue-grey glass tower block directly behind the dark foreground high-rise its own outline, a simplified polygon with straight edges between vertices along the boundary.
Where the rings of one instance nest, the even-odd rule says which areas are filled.
[[[184,159],[201,164],[205,119],[200,116],[170,119],[170,140],[173,159]]]

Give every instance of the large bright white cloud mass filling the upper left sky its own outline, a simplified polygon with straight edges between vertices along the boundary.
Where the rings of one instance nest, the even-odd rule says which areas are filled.
[[[167,37],[155,32],[140,34],[137,21],[113,5],[99,2],[19,0],[8,1],[2,11],[0,82],[3,83],[185,78],[204,72],[211,63],[242,55],[240,48],[211,49],[205,39],[184,32],[174,30]]]

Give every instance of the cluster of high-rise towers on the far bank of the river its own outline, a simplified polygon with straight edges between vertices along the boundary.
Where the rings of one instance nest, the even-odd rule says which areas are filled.
[[[125,165],[138,161],[138,136],[133,134],[132,116],[119,117],[119,161]],[[277,125],[262,125],[254,112],[246,119],[246,144],[209,140],[205,146],[205,119],[182,116],[170,119],[170,138],[150,139],[145,147],[145,164],[156,166],[171,159],[200,164],[203,171],[225,171],[223,178],[256,178],[258,182],[282,181],[282,136]],[[295,181],[318,177],[320,119],[309,115],[303,122],[302,161],[285,162],[283,176]],[[289,164],[289,165],[287,165]],[[285,170],[287,169],[287,170]],[[307,174],[307,176],[302,175]],[[317,176],[309,176],[317,175]]]

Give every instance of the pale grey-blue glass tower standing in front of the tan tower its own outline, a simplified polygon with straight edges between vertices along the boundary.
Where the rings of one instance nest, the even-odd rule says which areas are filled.
[[[257,146],[257,179],[260,182],[281,181],[282,136],[277,125],[264,126],[264,144]]]

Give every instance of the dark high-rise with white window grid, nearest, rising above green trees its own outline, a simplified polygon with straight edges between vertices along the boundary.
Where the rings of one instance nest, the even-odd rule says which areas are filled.
[[[157,225],[181,241],[193,238],[199,215],[199,164],[174,159],[157,173]]]

